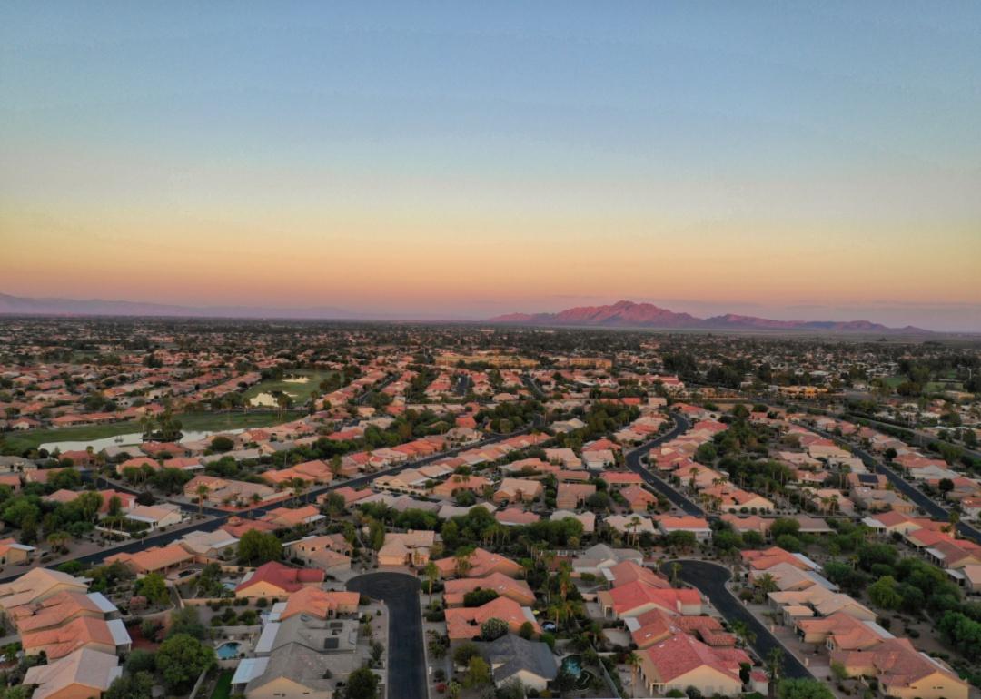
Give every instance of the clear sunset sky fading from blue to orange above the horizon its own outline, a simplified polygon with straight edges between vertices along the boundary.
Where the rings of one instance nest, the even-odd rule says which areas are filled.
[[[0,6],[0,293],[981,331],[977,2]]]

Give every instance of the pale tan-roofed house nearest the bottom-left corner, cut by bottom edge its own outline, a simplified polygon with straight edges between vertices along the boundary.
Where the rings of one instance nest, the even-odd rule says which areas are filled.
[[[32,699],[84,699],[99,696],[123,674],[119,658],[92,648],[79,648],[64,658],[27,670],[25,686]]]

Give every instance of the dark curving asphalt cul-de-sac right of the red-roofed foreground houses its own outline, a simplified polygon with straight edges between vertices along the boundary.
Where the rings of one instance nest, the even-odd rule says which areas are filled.
[[[756,634],[752,649],[761,660],[765,660],[773,648],[780,648],[784,651],[785,677],[813,679],[814,675],[803,667],[800,660],[726,588],[726,580],[731,576],[729,569],[707,561],[670,561],[661,565],[661,571],[670,575],[675,563],[681,566],[681,579],[705,595],[728,622],[739,620],[749,626]]]

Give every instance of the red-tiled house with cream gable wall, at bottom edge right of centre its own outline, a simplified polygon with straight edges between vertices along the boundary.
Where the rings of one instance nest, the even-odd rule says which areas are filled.
[[[739,696],[740,665],[751,663],[745,651],[712,648],[688,633],[676,633],[641,651],[640,674],[651,696],[695,687],[703,696]]]

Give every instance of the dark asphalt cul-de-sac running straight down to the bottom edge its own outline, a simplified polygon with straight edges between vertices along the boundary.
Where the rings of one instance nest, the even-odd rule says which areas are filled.
[[[347,589],[387,605],[387,696],[428,699],[419,580],[404,573],[369,573],[348,580]]]

